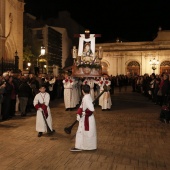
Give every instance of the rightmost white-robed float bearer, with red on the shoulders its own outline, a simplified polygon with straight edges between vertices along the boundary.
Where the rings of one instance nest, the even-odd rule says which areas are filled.
[[[104,90],[104,86],[110,86],[111,81],[108,79],[107,75],[101,77],[98,82],[100,87],[100,93]],[[104,92],[99,98],[99,105],[102,107],[102,111],[110,110],[112,106],[112,101],[110,97],[110,91]]]

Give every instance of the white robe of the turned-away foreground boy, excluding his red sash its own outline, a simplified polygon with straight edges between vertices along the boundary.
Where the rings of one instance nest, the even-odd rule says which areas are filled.
[[[83,109],[83,111],[85,111],[87,108],[90,111],[94,111],[94,106],[92,104],[92,98],[90,94],[86,94],[83,97],[80,107]],[[85,116],[82,116],[79,120],[78,130],[76,133],[75,148],[82,150],[97,149],[97,133],[94,114],[89,116],[89,131],[85,131],[84,121]]]

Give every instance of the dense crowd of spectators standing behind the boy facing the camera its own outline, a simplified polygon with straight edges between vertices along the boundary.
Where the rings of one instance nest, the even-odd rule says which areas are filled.
[[[22,75],[5,72],[0,75],[0,118],[8,120],[19,112],[21,116],[35,111],[33,100],[41,84],[46,85],[50,100],[63,97],[62,76]]]

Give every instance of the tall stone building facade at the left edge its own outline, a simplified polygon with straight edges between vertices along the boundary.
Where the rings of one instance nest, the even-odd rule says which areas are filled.
[[[23,69],[23,12],[23,0],[0,1],[1,72],[13,69],[16,55],[19,56],[18,67]]]

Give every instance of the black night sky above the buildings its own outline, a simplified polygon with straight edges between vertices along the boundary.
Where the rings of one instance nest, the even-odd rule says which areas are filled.
[[[57,18],[67,10],[71,18],[102,41],[152,41],[158,32],[170,30],[170,0],[25,0],[25,12],[37,18]]]

